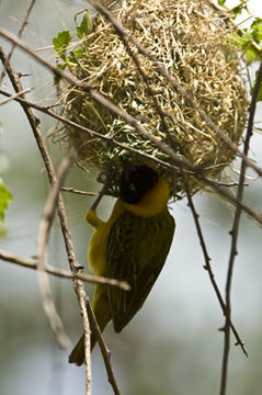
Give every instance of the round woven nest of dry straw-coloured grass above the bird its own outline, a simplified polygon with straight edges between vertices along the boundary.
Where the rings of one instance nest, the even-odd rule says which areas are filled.
[[[241,143],[247,114],[246,87],[237,48],[230,42],[230,30],[204,0],[125,0],[114,10],[123,25],[157,58],[213,122],[236,144]],[[235,153],[189,106],[181,94],[164,79],[156,65],[128,42],[147,76],[147,82],[130,58],[114,27],[101,15],[95,16],[93,32],[79,46],[87,55],[71,72],[122,110],[136,117],[144,128],[164,142],[191,165],[200,166],[205,176],[217,179]],[[160,147],[152,144],[87,92],[64,87],[64,114],[71,121],[112,137],[137,151],[123,149],[112,142],[92,137],[71,126],[59,131],[59,138],[78,149],[84,168],[94,165],[104,171],[118,166],[122,158],[139,163],[150,160],[139,153],[172,163]],[[151,166],[158,167],[153,161]],[[168,180],[170,168],[160,166]],[[117,184],[117,178],[113,180]],[[170,181],[171,182],[171,181]],[[204,184],[194,176],[194,193]],[[184,194],[182,176],[175,178],[173,194]]]

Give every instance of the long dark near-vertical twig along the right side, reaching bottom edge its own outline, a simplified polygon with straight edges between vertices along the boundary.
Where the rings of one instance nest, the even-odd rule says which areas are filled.
[[[262,60],[260,63],[260,68],[257,75],[254,90],[251,99],[250,111],[249,111],[249,120],[248,120],[248,129],[244,138],[243,145],[243,154],[247,156],[249,151],[250,139],[253,134],[253,122],[254,114],[257,109],[257,99],[259,94],[259,90],[262,82]],[[239,176],[239,185],[237,191],[237,201],[241,202],[243,196],[243,183],[244,183],[244,174],[247,170],[247,163],[242,160],[240,176]],[[237,242],[238,242],[238,230],[239,223],[241,216],[241,207],[239,204],[236,206],[235,217],[232,223],[232,228],[230,230],[231,235],[231,249],[230,257],[228,262],[228,272],[227,272],[227,283],[226,283],[226,325],[225,325],[225,339],[224,339],[224,354],[223,354],[223,368],[221,368],[221,382],[220,382],[220,395],[225,395],[227,391],[227,372],[228,372],[228,359],[229,359],[229,350],[230,350],[230,317],[231,317],[231,283],[232,283],[232,272],[233,272],[233,263],[237,251]]]

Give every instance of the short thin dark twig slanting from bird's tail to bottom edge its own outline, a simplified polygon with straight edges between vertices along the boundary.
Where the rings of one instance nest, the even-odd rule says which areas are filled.
[[[90,324],[92,326],[92,329],[95,331],[98,343],[99,343],[99,347],[101,349],[101,353],[102,353],[102,357],[103,357],[103,360],[104,360],[104,365],[105,365],[105,369],[106,369],[106,372],[107,372],[109,382],[112,385],[114,394],[115,395],[121,395],[121,392],[119,392],[119,388],[118,388],[117,383],[115,381],[114,372],[112,370],[112,365],[111,365],[111,362],[110,362],[110,351],[107,350],[107,348],[106,348],[106,346],[104,343],[104,340],[102,338],[99,324],[96,321],[95,315],[93,314],[93,311],[91,308],[91,305],[90,305],[90,302],[89,302],[88,297],[86,300],[86,304],[87,304],[87,308],[88,308]]]

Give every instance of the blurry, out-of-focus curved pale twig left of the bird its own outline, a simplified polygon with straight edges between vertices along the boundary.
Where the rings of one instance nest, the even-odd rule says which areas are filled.
[[[53,189],[50,190],[44,206],[43,217],[39,223],[38,237],[37,237],[37,278],[38,278],[39,290],[43,298],[43,306],[46,316],[49,320],[50,327],[54,331],[54,335],[57,339],[57,342],[60,345],[61,349],[67,349],[70,346],[70,340],[66,335],[62,321],[59,317],[59,314],[55,306],[55,302],[52,296],[48,275],[45,272],[45,264],[46,264],[45,261],[46,261],[46,249],[47,249],[49,233],[55,214],[57,196],[58,193],[60,192],[60,187],[64,182],[67,171],[69,170],[69,167],[72,163],[72,160],[73,160],[73,155],[70,155],[68,158],[65,158],[61,161],[57,174],[57,180],[53,185]]]

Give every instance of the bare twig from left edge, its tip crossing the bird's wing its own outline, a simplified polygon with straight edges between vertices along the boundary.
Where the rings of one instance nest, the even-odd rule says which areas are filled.
[[[33,259],[26,259],[26,258],[22,258],[16,256],[15,253],[12,252],[8,252],[4,250],[0,249],[0,259],[5,261],[5,262],[12,262],[19,266],[22,266],[24,268],[27,269],[37,269],[37,262],[36,260]],[[65,269],[58,269],[58,268],[54,268],[49,264],[45,264],[44,269],[47,273],[59,276],[59,278],[65,278],[65,279],[77,279],[77,280],[81,280],[81,281],[87,281],[87,282],[91,282],[91,283],[99,283],[99,284],[106,284],[106,285],[111,285],[111,286],[118,286],[119,289],[124,290],[124,291],[129,291],[130,286],[125,282],[125,281],[118,281],[118,280],[114,280],[114,279],[106,279],[103,276],[98,276],[98,275],[91,275],[91,274],[84,274],[84,273],[76,273],[73,274],[71,271],[69,270],[65,270]]]

